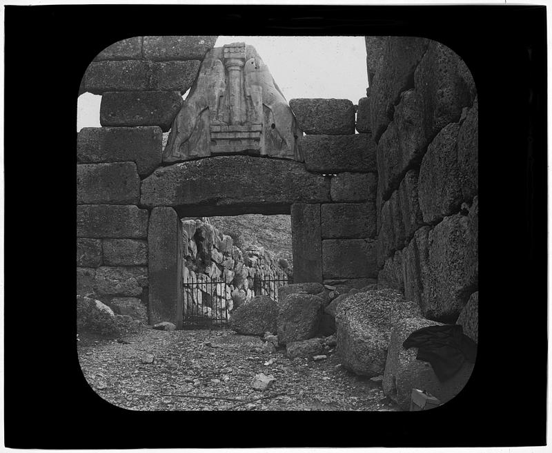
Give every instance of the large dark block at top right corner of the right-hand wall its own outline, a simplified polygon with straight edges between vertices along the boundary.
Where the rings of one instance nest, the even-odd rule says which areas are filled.
[[[429,141],[444,126],[458,122],[462,108],[473,102],[473,80],[466,65],[451,49],[430,41],[414,73],[422,102],[424,133]]]

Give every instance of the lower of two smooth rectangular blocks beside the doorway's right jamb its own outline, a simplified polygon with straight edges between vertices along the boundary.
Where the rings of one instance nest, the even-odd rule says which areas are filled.
[[[375,241],[326,239],[322,241],[324,278],[376,278]]]

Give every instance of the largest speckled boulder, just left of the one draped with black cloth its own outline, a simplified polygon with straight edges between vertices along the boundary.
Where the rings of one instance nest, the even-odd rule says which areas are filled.
[[[337,354],[342,365],[362,376],[383,374],[391,329],[402,318],[420,316],[415,302],[392,289],[348,296],[337,307]]]

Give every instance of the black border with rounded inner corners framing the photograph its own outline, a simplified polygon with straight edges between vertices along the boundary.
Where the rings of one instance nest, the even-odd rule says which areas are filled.
[[[5,10],[7,447],[544,445],[544,7],[112,5]],[[483,302],[477,367],[462,394],[440,409],[416,414],[190,415],[130,412],[92,392],[79,369],[72,311],[77,93],[86,66],[100,50],[143,35],[420,36],[446,44],[464,59],[480,104]],[[230,425],[228,436],[213,436],[213,427]]]

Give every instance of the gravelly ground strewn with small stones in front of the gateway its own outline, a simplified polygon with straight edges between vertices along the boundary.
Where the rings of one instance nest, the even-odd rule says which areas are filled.
[[[381,381],[347,372],[333,349],[326,360],[290,360],[284,347],[264,352],[260,338],[233,331],[152,329],[119,340],[81,334],[77,345],[92,389],[126,409],[397,410]],[[253,389],[259,373],[274,376],[272,387]]]

